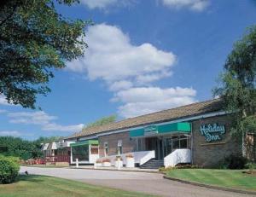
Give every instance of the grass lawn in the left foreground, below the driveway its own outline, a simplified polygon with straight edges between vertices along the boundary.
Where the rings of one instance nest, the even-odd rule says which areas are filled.
[[[148,196],[114,188],[103,188],[87,183],[44,176],[20,176],[16,183],[0,184],[0,196]]]

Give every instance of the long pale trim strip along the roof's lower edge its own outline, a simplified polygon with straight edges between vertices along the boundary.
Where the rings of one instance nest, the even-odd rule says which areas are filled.
[[[154,125],[166,125],[166,124],[179,123],[179,122],[195,120],[195,119],[207,119],[207,118],[210,118],[210,117],[220,116],[220,115],[225,115],[225,114],[228,114],[228,113],[225,112],[225,111],[218,112],[218,113],[206,113],[206,114],[202,114],[202,115],[199,115],[199,116],[194,116],[194,117],[185,118],[185,119],[176,119],[176,120],[172,120],[172,121],[168,121],[168,122],[157,123],[157,124],[154,124]],[[153,125],[153,124],[148,123],[147,125]],[[129,129],[125,129],[125,130],[108,131],[107,133],[97,134],[96,136],[97,137],[98,136],[108,136],[109,134],[122,133],[122,132],[130,131],[130,130],[143,129],[147,125],[131,127]]]

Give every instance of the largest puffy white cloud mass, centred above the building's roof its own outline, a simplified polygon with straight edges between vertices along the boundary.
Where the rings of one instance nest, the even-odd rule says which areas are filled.
[[[195,101],[192,88],[152,87],[154,81],[172,75],[177,61],[171,51],[157,49],[151,43],[134,45],[117,26],[90,26],[84,58],[67,64],[90,80],[102,79],[113,91],[111,101],[122,103],[119,115],[125,118]]]

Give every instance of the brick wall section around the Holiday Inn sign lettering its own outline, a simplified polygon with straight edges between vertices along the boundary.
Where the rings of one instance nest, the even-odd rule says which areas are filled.
[[[230,136],[230,117],[227,115],[198,119],[192,122],[193,136],[193,164],[204,167],[218,166],[225,156],[241,154],[241,142]],[[220,141],[206,142],[205,136],[201,135],[201,125],[217,123],[225,125],[224,138]]]

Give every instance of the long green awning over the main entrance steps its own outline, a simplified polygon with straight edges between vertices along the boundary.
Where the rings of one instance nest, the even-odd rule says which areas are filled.
[[[174,132],[191,132],[190,123],[172,123],[166,125],[148,125],[141,129],[130,130],[131,137],[137,136],[154,136],[157,134],[166,134],[166,133],[174,133]]]

